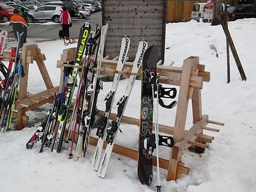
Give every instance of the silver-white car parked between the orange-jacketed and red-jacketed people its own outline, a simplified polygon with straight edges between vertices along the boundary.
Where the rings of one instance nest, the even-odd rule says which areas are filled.
[[[29,20],[52,20],[54,23],[59,23],[59,15],[62,12],[62,7],[60,5],[43,5],[35,10],[30,10]]]

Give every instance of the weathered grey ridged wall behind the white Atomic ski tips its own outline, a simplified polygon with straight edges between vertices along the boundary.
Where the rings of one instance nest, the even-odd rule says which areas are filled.
[[[108,23],[105,55],[119,55],[121,38],[128,35],[131,46],[128,57],[132,61],[138,42],[145,38],[148,44],[158,46],[158,59],[165,54],[165,0],[102,0],[102,24]]]

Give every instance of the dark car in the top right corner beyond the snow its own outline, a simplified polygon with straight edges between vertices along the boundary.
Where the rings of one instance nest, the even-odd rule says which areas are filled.
[[[256,18],[256,5],[240,4],[227,8],[230,21],[235,21],[243,18]]]

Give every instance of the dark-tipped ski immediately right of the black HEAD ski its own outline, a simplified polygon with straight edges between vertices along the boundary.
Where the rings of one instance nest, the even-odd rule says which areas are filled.
[[[76,148],[74,152],[74,161],[79,160],[80,157],[82,157],[82,152],[84,151],[84,155],[86,152],[86,148],[84,148],[84,143],[86,140],[86,135],[90,135],[90,127],[88,127],[88,121],[85,119],[88,119],[88,113],[90,112],[90,104],[91,104],[91,95],[93,93],[93,79],[94,79],[94,72],[93,68],[96,65],[96,59],[98,55],[98,48],[99,48],[99,42],[101,39],[101,27],[99,25],[96,25],[96,30],[93,34],[91,34],[91,42],[89,45],[89,53],[88,53],[88,59],[87,59],[87,67],[84,71],[84,91],[82,95],[82,102],[79,109],[79,121],[77,122],[79,124],[79,134],[77,138]]]

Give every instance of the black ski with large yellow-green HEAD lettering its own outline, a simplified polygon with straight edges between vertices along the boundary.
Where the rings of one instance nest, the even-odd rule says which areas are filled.
[[[77,43],[76,55],[74,58],[73,73],[71,74],[71,76],[68,77],[67,91],[65,93],[65,101],[60,106],[58,116],[56,117],[57,120],[59,121],[59,126],[57,127],[57,133],[54,138],[54,143],[52,144],[53,152],[61,152],[61,149],[62,149],[62,141],[65,133],[66,123],[69,118],[71,101],[72,101],[73,92],[76,86],[77,73],[79,70],[78,68],[76,68],[76,66],[79,66],[82,63],[82,57],[85,52],[85,47],[87,44],[88,37],[90,35],[90,30],[91,30],[91,26],[89,23],[85,23],[80,28],[79,40]]]

